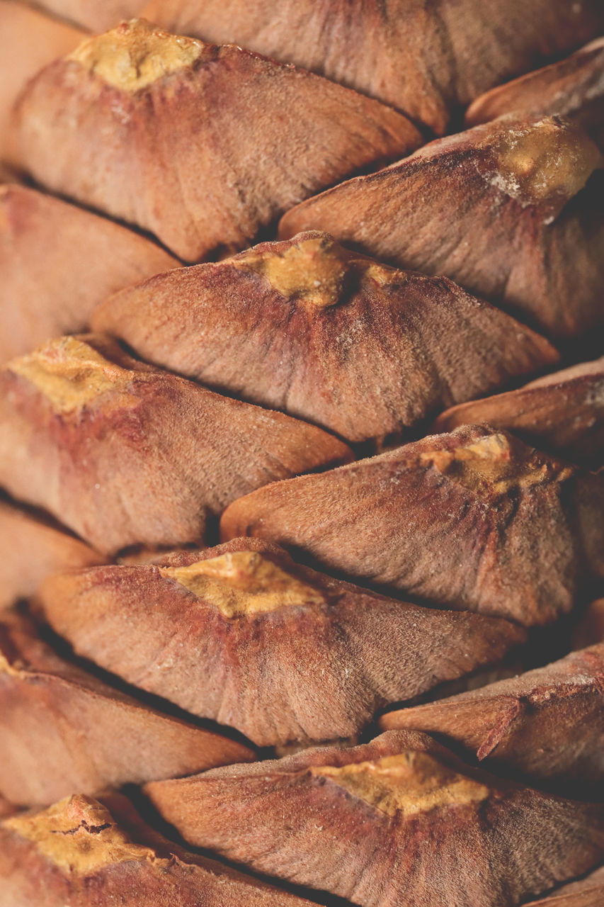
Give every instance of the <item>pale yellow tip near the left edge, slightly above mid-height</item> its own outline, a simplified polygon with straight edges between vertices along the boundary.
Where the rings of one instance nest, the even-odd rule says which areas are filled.
[[[6,367],[34,385],[58,413],[73,412],[107,391],[122,391],[134,375],[76,337],[52,340]]]

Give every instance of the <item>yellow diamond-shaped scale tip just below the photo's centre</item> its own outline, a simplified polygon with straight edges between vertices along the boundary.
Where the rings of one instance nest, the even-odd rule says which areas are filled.
[[[326,602],[322,591],[258,551],[234,551],[189,567],[160,567],[159,571],[228,618]]]

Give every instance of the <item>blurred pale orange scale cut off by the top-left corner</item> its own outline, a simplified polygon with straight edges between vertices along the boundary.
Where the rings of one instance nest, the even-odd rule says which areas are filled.
[[[73,51],[85,36],[30,6],[0,0],[0,158],[19,157],[12,109],[27,80],[55,57]]]

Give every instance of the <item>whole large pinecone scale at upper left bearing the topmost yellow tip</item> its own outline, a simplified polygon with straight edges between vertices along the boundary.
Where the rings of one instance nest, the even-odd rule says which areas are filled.
[[[16,119],[36,180],[188,261],[245,248],[292,205],[422,141],[401,114],[317,75],[142,20],[46,67]]]

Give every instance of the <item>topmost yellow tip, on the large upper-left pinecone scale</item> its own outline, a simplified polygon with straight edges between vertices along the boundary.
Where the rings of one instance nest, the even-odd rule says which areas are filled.
[[[115,88],[138,92],[195,63],[209,47],[194,38],[162,32],[144,19],[132,19],[84,41],[66,59],[81,63]]]

